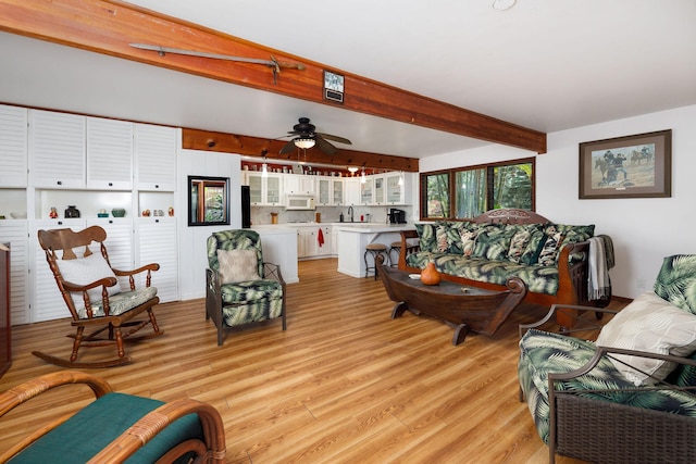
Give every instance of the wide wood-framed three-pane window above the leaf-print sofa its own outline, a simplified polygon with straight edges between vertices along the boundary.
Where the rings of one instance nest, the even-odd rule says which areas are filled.
[[[534,209],[534,158],[421,174],[421,220]],[[451,201],[450,201],[451,199]]]

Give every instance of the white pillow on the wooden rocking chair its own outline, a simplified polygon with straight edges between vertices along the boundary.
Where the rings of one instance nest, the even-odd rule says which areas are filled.
[[[76,285],[87,285],[92,281],[102,279],[104,277],[116,277],[109,263],[104,260],[104,256],[100,252],[90,254],[87,258],[77,258],[75,260],[58,260],[58,268],[61,271],[63,280]],[[116,283],[113,287],[107,287],[107,293],[111,297],[121,292],[121,284]],[[83,300],[83,293],[73,291],[71,292],[75,306],[83,306],[85,301]],[[89,301],[101,301],[101,287],[95,287],[87,291],[89,294]]]

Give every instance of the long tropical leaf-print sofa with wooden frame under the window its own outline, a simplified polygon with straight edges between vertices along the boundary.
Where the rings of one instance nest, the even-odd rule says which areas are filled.
[[[527,224],[486,221],[489,215],[417,224],[414,234],[402,234],[403,242],[419,238],[418,251],[401,247],[402,268],[420,272],[432,261],[446,278],[484,288],[501,289],[519,277],[531,302],[587,301],[586,251],[594,225],[554,224],[536,214]]]

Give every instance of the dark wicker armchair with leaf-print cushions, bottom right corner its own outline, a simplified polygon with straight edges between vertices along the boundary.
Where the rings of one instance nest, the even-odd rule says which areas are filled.
[[[614,317],[594,327],[601,328],[597,342],[538,329],[567,310],[585,324],[572,331],[596,326],[585,312]],[[520,326],[520,400],[549,447],[549,462],[556,454],[593,463],[696,462],[695,314],[696,255],[676,255],[664,259],[654,292],[620,312],[555,304],[542,321]],[[680,330],[688,342],[670,346],[666,340]],[[617,331],[650,349],[610,344]]]

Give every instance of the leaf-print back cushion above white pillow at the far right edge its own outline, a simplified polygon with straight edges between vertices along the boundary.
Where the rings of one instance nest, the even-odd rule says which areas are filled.
[[[667,256],[657,275],[655,293],[684,311],[696,314],[696,254]]]

